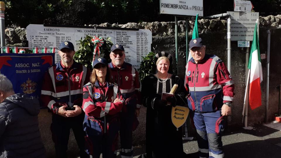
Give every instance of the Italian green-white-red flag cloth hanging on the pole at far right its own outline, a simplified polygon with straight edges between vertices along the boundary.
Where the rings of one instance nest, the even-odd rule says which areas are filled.
[[[250,69],[250,88],[249,88],[249,104],[251,109],[261,106],[261,81],[263,81],[263,72],[261,68],[261,56],[258,44],[257,23],[253,36],[251,54],[249,58],[248,68]]]

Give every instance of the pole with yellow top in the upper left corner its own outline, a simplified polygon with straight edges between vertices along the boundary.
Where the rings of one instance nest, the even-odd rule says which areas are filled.
[[[0,40],[1,47],[5,47],[5,3],[0,2]],[[1,49],[1,53],[3,53],[3,49]]]

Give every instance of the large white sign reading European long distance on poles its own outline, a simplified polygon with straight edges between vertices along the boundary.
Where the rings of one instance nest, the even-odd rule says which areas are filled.
[[[228,11],[227,13],[231,16],[231,41],[253,41],[256,20],[259,18],[259,13],[235,11]]]

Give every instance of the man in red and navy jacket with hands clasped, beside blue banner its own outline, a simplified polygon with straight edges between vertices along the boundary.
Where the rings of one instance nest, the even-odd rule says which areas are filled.
[[[51,132],[56,157],[67,157],[70,128],[80,148],[80,157],[87,157],[84,151],[84,112],[81,106],[82,87],[89,82],[90,72],[73,60],[75,50],[71,42],[61,42],[58,53],[61,61],[48,69],[41,91],[43,105],[53,114]]]

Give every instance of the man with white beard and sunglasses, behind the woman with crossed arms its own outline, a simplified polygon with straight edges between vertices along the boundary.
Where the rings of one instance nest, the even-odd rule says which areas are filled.
[[[138,72],[130,63],[124,62],[125,50],[121,44],[111,47],[109,68],[112,70],[112,82],[119,86],[124,98],[124,106],[120,114],[120,140],[121,157],[133,157],[132,131],[136,128],[138,121],[136,117],[140,111],[140,82]]]

